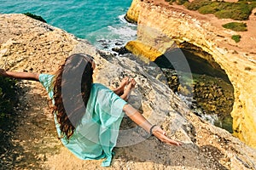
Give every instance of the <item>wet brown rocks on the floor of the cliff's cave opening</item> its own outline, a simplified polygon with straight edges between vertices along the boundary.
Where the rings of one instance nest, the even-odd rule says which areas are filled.
[[[197,115],[217,115],[215,125],[223,127],[232,133],[232,111],[234,95],[232,85],[220,78],[194,75],[192,86],[181,84],[176,71],[162,69],[167,83],[173,92],[192,97],[191,109]],[[198,112],[200,110],[200,112]]]

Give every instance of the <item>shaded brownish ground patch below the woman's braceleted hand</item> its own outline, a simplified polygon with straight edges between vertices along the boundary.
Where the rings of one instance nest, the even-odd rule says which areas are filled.
[[[219,162],[224,159],[224,155],[216,147],[206,145],[198,147],[195,144],[183,144],[182,146],[167,145],[161,143],[158,139],[150,137],[142,143],[116,148],[115,160],[144,162],[148,167],[165,167],[172,169],[174,167],[192,167],[196,169],[227,169]],[[139,164],[140,166],[143,165]],[[150,167],[151,166],[151,167]],[[139,169],[136,167],[135,169]]]

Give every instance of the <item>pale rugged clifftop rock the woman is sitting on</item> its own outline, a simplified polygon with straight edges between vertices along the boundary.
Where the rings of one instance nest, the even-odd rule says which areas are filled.
[[[157,67],[140,65],[132,55],[98,51],[54,26],[23,14],[0,15],[0,65],[11,71],[55,72],[69,54],[96,59],[95,82],[113,88],[124,76],[137,87],[129,103],[152,123],[160,124],[180,147],[162,144],[124,118],[116,155],[109,169],[255,169],[256,151],[227,131],[195,116],[161,82]],[[158,78],[156,78],[158,77]],[[100,161],[82,161],[57,139],[48,99],[39,82],[20,82],[15,131],[7,132],[0,165],[4,169],[101,169]]]

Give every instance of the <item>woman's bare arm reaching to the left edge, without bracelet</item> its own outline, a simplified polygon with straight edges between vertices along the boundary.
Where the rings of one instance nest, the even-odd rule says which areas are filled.
[[[38,73],[12,72],[12,71],[5,71],[2,68],[0,68],[0,76],[18,78],[18,79],[24,79],[24,80],[39,81],[39,74]]]

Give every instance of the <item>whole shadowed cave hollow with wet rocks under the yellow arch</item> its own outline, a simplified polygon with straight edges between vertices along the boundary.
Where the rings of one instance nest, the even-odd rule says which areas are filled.
[[[162,69],[173,92],[181,96],[196,115],[232,130],[234,88],[220,65],[206,52],[174,48],[154,63]],[[188,102],[189,101],[189,102]]]

